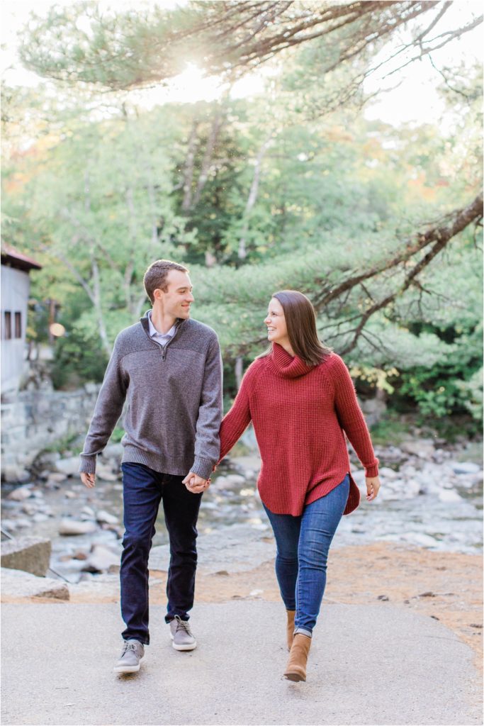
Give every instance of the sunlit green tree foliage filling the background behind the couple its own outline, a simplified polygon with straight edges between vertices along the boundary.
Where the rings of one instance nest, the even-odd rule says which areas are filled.
[[[93,3],[52,8],[33,24],[23,57],[48,76],[114,89],[149,80],[150,67],[168,78],[183,70],[183,33],[188,38],[207,17],[223,25],[218,5],[124,15]],[[338,64],[335,38],[344,39],[288,50],[251,99],[227,93],[147,111],[85,86],[70,99],[66,86],[59,99],[44,87],[37,98],[4,88],[4,240],[44,265],[31,276],[32,340],[47,338],[47,301],[60,305],[66,335],[55,346],[55,386],[102,379],[115,335],[149,307],[144,270],[168,257],[189,265],[194,317],[220,337],[226,404],[237,388],[235,359],[246,366],[266,348],[268,301],[290,287],[318,307],[321,339],[337,352],[350,345],[364,311],[396,293],[345,361],[397,407],[482,418],[474,227],[404,291],[428,248],[321,304],[329,290],[385,267],[417,230],[445,221],[480,189],[480,68],[446,69],[450,130],[395,129],[358,113],[364,95],[352,83],[371,58],[358,53]],[[161,58],[165,41],[180,55]]]

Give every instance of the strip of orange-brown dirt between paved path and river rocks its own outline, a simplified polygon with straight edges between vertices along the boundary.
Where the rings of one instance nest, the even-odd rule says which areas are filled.
[[[151,572],[150,600],[165,602],[165,572]],[[118,591],[89,593],[71,590],[70,602],[110,602]],[[197,573],[195,600],[223,603],[230,599],[280,600],[273,563],[229,574]],[[454,630],[475,651],[483,669],[483,558],[455,552],[431,552],[420,547],[377,542],[342,547],[330,553],[324,600],[332,603],[386,603],[412,608]]]

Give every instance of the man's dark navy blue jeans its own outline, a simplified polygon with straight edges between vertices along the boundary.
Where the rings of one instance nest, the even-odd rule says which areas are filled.
[[[158,507],[163,501],[170,538],[170,566],[165,621],[176,615],[188,620],[193,607],[197,569],[197,518],[202,494],[191,494],[183,476],[160,474],[143,464],[124,463],[123,554],[121,555],[121,614],[124,640],[149,643],[148,557],[155,535]]]

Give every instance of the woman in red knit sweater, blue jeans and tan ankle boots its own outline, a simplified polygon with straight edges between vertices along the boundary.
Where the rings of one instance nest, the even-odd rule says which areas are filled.
[[[365,468],[366,499],[380,489],[378,460],[343,360],[322,345],[308,298],[274,293],[264,320],[272,343],[250,364],[221,424],[221,460],[252,420],[261,451],[258,489],[276,539],[276,576],[287,610],[284,676],[305,680],[326,584],[329,545],[358,507],[345,433]],[[345,433],[343,433],[343,431]]]

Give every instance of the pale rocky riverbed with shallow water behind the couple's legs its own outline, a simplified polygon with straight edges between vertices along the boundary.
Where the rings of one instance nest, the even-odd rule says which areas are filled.
[[[480,552],[483,544],[483,468],[477,444],[449,445],[410,439],[377,446],[382,489],[372,505],[344,517],[335,546],[384,540],[434,551]],[[78,457],[46,454],[38,476],[22,486],[2,486],[2,529],[52,540],[52,567],[71,582],[116,567],[120,554],[122,484],[120,444],[99,457],[96,489],[78,476]],[[364,474],[354,460],[353,476],[364,494]],[[200,534],[246,524],[268,529],[255,480],[257,454],[222,465],[202,500]],[[167,542],[163,515],[154,544]]]

